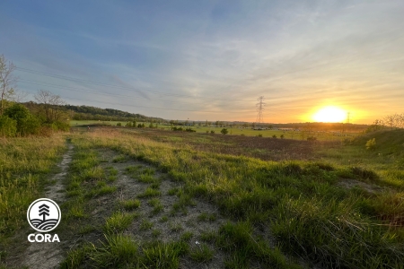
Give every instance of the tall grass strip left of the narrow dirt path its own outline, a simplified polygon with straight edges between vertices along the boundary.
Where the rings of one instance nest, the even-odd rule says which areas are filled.
[[[66,151],[61,135],[0,139],[0,242],[26,225],[28,206],[40,198],[48,173]]]

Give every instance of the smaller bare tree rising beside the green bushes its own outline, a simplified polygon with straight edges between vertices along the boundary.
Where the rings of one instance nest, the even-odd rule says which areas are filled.
[[[66,102],[59,95],[40,90],[34,98],[41,104],[40,112],[44,114],[48,123],[57,121],[63,116],[63,111],[57,107],[65,105]]]

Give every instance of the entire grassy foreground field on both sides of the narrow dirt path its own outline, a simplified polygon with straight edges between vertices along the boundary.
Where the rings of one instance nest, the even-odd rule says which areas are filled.
[[[110,127],[65,138],[62,268],[404,268],[403,130],[346,143]],[[22,266],[13,242],[63,141],[1,141],[4,266]]]

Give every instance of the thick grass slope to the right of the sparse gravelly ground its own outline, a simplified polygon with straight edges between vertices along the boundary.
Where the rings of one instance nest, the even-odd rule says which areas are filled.
[[[340,178],[382,182],[383,174],[352,165],[259,161],[175,148],[110,132],[87,134],[80,139],[152,163],[171,178],[184,182],[190,195],[218,204],[222,213],[238,221],[224,225],[217,234],[218,244],[230,251],[234,261],[243,256],[265,257],[262,249],[268,246],[260,247],[262,241],[250,238],[254,230],[269,229],[282,251],[313,264],[352,268],[403,266],[404,232],[400,217],[404,204],[400,178],[395,178],[398,192],[373,194],[360,187],[338,186]],[[356,146],[359,145],[348,148]],[[366,159],[369,166],[370,159]]]

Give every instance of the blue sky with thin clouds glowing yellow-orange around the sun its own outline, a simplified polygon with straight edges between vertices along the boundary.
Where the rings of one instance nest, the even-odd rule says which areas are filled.
[[[17,89],[166,119],[404,111],[404,1],[1,1]],[[341,119],[342,120],[342,119]],[[344,119],[345,120],[345,119]]]

